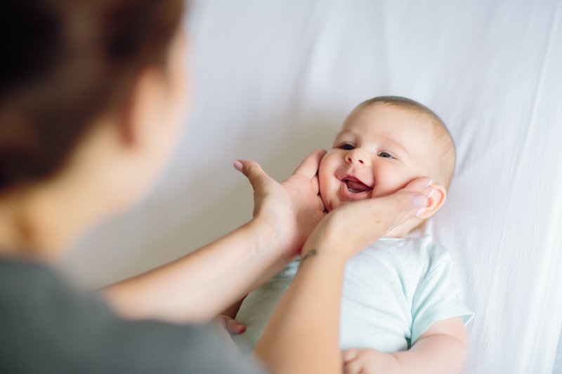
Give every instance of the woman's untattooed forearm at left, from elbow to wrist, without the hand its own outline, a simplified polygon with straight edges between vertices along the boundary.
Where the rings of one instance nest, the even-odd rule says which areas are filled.
[[[183,258],[103,290],[133,319],[208,321],[291,260],[276,233],[253,220]]]

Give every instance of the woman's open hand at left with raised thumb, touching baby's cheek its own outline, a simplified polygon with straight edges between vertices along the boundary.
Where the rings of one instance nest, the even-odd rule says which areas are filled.
[[[265,223],[289,258],[299,253],[325,215],[317,175],[325,153],[324,149],[313,151],[282,183],[267,175],[259,163],[250,160],[234,163],[254,188],[254,220]]]

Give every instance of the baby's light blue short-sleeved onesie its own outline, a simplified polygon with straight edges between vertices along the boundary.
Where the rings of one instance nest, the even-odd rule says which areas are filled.
[[[242,349],[251,350],[259,340],[298,267],[299,259],[289,263],[244,300],[236,319],[247,330],[235,335]],[[449,251],[429,235],[381,238],[346,265],[341,300],[341,349],[404,351],[432,323],[454,316],[462,317],[466,324],[473,312],[457,295]]]

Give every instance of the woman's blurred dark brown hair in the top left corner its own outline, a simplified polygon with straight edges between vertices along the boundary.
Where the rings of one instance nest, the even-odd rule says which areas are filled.
[[[58,171],[96,119],[163,66],[183,0],[4,0],[0,192]]]

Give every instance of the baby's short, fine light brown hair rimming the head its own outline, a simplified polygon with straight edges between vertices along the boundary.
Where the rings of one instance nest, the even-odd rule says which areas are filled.
[[[438,164],[438,177],[441,180],[436,182],[440,182],[441,184],[443,184],[443,187],[449,189],[452,175],[455,173],[455,162],[457,159],[457,155],[455,152],[455,143],[452,140],[452,136],[449,132],[449,129],[445,125],[445,122],[443,122],[443,120],[440,119],[437,114],[435,114],[425,105],[420,104],[415,100],[403,98],[401,96],[377,96],[377,98],[372,98],[361,102],[357,106],[357,109],[360,109],[362,107],[371,107],[373,105],[391,105],[400,107],[417,114],[422,114],[429,119],[428,124],[431,126],[430,129],[433,132],[433,138],[436,140],[436,145],[438,147],[438,156],[441,161]]]

